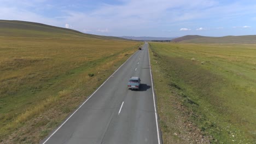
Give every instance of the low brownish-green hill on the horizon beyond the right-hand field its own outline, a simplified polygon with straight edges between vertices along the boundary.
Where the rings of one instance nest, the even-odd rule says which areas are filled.
[[[177,43],[196,44],[255,44],[256,35],[225,36],[225,37],[203,37],[200,35],[185,35],[172,40]]]

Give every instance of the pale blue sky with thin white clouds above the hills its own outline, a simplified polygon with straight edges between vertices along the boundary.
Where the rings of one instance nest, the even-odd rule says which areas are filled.
[[[256,1],[0,0],[0,19],[112,36],[255,35]]]

